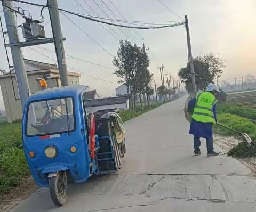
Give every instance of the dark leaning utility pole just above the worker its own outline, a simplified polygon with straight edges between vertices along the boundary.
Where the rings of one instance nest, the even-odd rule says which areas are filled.
[[[192,50],[191,50],[190,35],[189,35],[189,28],[188,28],[188,16],[187,15],[185,15],[185,27],[187,30],[188,54],[189,54],[189,63],[190,63],[190,69],[191,69],[193,97],[196,97],[195,70],[194,70],[194,62],[193,62],[193,56],[192,56]]]

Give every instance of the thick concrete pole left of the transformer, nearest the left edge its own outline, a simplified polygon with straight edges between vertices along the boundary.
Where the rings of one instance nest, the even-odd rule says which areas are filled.
[[[13,9],[12,2],[8,0],[3,0],[3,5]],[[3,6],[4,18],[6,22],[6,28],[9,36],[10,43],[19,42],[19,36],[17,31],[17,22],[15,12],[7,9]],[[28,77],[25,69],[25,63],[23,60],[23,54],[21,52],[21,47],[19,45],[11,46],[12,60],[15,69],[15,77],[17,80],[17,85],[20,94],[20,101],[22,105],[22,110],[24,110],[25,102],[30,95],[30,89],[28,84]]]

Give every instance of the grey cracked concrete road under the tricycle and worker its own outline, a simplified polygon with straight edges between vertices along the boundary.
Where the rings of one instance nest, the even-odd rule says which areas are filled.
[[[69,184],[62,207],[39,189],[13,211],[256,211],[256,180],[249,169],[226,155],[206,157],[205,141],[202,155],[194,157],[185,100],[125,123],[127,154],[117,174]]]

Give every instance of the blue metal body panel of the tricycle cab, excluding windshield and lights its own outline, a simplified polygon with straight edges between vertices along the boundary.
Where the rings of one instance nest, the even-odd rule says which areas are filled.
[[[68,169],[75,182],[84,182],[92,174],[89,167],[91,157],[88,153],[86,126],[83,117],[82,93],[85,88],[85,86],[49,88],[31,95],[26,102],[22,118],[23,149],[31,174],[35,182],[41,187],[48,186],[47,173],[50,172]],[[27,137],[25,130],[29,103],[67,96],[73,97],[75,103],[75,131],[70,134],[61,133],[60,137],[43,140],[40,136]],[[45,156],[45,148],[49,145],[58,149],[57,157],[47,158]],[[70,152],[71,146],[76,146],[77,151],[75,153]],[[34,158],[29,157],[29,151],[35,152]]]

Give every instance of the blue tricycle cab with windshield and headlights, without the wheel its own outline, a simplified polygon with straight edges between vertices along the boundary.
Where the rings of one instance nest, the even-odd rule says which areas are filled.
[[[86,86],[48,88],[31,95],[22,119],[23,149],[35,182],[49,186],[49,173],[68,171],[75,182],[92,174]]]

